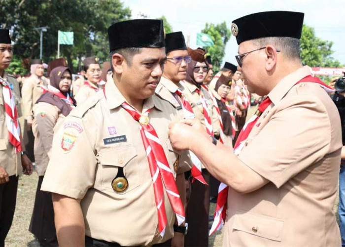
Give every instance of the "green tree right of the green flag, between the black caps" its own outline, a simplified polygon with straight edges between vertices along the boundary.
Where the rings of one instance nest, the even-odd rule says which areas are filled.
[[[211,55],[213,72],[217,73],[221,68],[221,62],[225,55],[225,45],[230,39],[231,32],[225,21],[217,25],[206,23],[201,32],[210,35],[214,42],[213,46],[203,48]]]

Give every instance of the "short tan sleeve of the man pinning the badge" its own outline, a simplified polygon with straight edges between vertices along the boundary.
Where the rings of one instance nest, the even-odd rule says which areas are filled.
[[[329,150],[330,139],[330,120],[321,100],[297,95],[280,104],[239,159],[279,188],[321,160]]]

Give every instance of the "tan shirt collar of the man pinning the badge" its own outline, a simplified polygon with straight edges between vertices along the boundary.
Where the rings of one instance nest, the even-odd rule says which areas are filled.
[[[276,105],[285,94],[293,87],[298,81],[311,75],[311,68],[303,66],[302,68],[287,75],[276,84],[272,91],[268,94],[268,97]]]

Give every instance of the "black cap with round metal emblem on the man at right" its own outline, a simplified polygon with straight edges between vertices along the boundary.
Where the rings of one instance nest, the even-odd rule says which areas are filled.
[[[300,39],[304,13],[268,11],[250,14],[236,19],[231,32],[238,44],[266,37],[290,37]]]

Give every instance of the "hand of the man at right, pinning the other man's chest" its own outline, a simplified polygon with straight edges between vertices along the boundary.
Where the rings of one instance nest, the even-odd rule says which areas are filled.
[[[170,124],[168,131],[172,146],[176,150],[189,149],[190,142],[200,133],[208,136],[203,125],[196,119],[184,119],[178,123]]]

